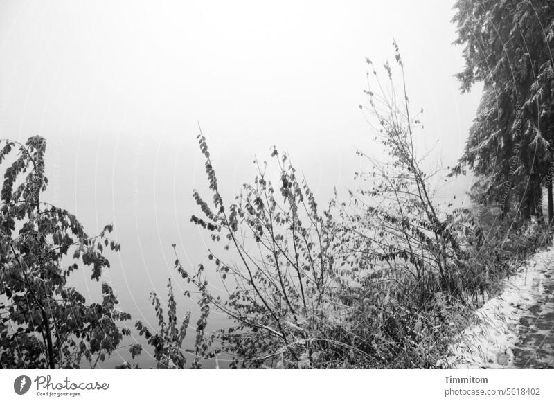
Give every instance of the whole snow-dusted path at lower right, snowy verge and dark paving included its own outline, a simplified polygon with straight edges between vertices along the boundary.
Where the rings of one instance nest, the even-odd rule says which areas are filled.
[[[554,368],[554,247],[530,258],[476,317],[442,366]]]

